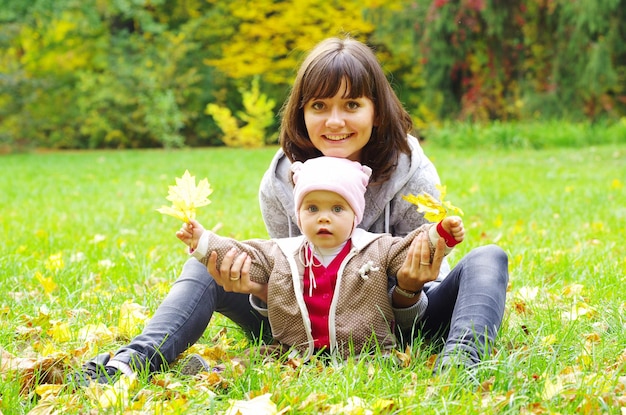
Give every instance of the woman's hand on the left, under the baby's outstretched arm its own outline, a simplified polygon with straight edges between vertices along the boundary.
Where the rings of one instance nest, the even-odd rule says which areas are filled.
[[[222,259],[219,269],[217,268],[217,252],[209,255],[207,269],[218,285],[224,291],[252,294],[267,303],[267,284],[260,284],[250,280],[250,266],[252,259],[245,252],[237,255],[237,250],[232,248]]]

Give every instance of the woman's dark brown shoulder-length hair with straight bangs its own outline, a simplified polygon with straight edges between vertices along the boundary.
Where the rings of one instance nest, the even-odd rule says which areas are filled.
[[[281,111],[280,144],[292,162],[321,156],[307,133],[304,106],[314,98],[335,96],[343,82],[347,84],[344,98],[367,97],[374,103],[374,128],[360,162],[372,169],[372,183],[384,182],[400,154],[411,152],[407,134],[413,122],[373,51],[349,37],[320,42],[303,61]]]

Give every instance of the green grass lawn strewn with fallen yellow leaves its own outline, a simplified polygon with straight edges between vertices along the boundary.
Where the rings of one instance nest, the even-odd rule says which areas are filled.
[[[185,169],[207,177],[214,192],[212,204],[199,211],[201,222],[221,223],[222,234],[239,239],[266,237],[257,189],[274,151],[1,156],[0,346],[20,358],[60,356],[65,367],[125,344],[128,334],[115,331],[122,304],[130,300],[153,312],[187,258],[174,237],[179,223],[155,211],[167,203],[168,185]],[[222,386],[175,372],[153,382],[140,378],[131,397],[109,412],[152,413],[156,402],[164,413],[213,413],[229,400],[269,393],[289,413],[366,413],[348,411],[351,397],[373,413],[623,413],[626,145],[447,150],[426,144],[425,151],[450,201],[465,211],[468,235],[452,262],[494,242],[509,254],[505,321],[493,359],[479,371],[481,386],[463,373],[433,378],[436,350],[419,342],[407,368],[379,356],[295,368],[252,358],[241,369],[230,358],[245,356],[250,345],[217,317],[199,343],[212,346],[227,329],[219,337],[228,356]],[[579,311],[575,319],[572,307]],[[68,338],[55,336],[61,323],[69,325]],[[82,328],[99,323],[114,336],[80,338]],[[19,393],[16,372],[2,376],[4,414],[41,404],[34,388]],[[98,411],[88,391],[61,392],[49,402],[66,414]]]

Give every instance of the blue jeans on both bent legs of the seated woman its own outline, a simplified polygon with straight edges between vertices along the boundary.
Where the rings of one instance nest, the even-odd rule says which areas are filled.
[[[439,284],[425,289],[428,308],[411,336],[445,339],[442,356],[464,351],[473,362],[490,352],[502,322],[508,259],[495,245],[471,251]],[[248,294],[229,293],[206,267],[189,259],[143,332],[113,357],[138,371],[167,368],[200,339],[214,312],[228,317],[252,339],[271,339],[269,321]]]

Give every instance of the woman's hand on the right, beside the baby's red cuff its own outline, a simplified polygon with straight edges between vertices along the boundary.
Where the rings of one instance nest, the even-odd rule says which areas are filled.
[[[406,291],[418,292],[424,284],[437,279],[444,258],[446,242],[437,240],[435,254],[430,261],[430,243],[428,232],[422,232],[413,240],[407,252],[406,260],[396,276],[396,285]]]

